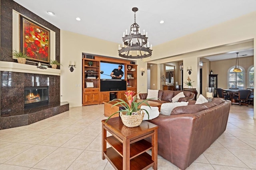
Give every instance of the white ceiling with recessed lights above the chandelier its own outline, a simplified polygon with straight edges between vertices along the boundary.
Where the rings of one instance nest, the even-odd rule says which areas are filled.
[[[134,23],[132,8],[137,7],[136,23],[141,30],[148,32],[148,41],[153,48],[154,45],[256,11],[256,0],[14,1],[61,30],[120,44],[123,32]],[[55,15],[51,16],[47,11]],[[81,21],[75,20],[76,17],[80,17]],[[160,24],[160,20],[164,20],[164,24]],[[253,51],[250,52],[253,55]]]

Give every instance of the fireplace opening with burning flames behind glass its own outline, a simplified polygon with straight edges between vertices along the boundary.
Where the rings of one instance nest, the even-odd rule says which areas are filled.
[[[48,86],[24,87],[24,109],[45,106],[49,104]]]

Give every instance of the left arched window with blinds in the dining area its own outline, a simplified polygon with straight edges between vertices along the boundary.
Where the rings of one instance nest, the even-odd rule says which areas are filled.
[[[238,88],[238,89],[244,89],[244,73],[243,71],[238,73],[233,71],[234,68],[232,68],[229,72],[229,88]]]

